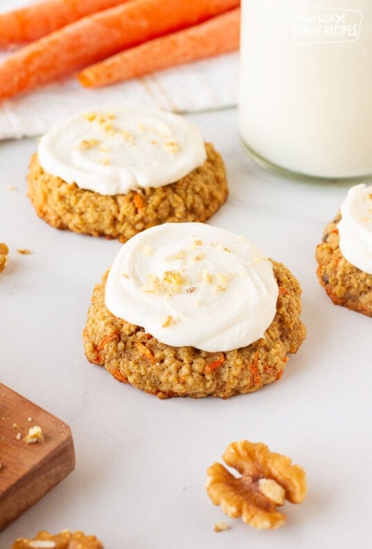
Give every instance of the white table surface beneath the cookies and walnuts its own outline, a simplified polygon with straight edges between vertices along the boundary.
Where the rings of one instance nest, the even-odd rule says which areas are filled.
[[[330,302],[314,260],[350,184],[267,174],[244,156],[235,110],[190,119],[228,172],[230,197],[210,223],[294,272],[307,339],[280,382],[229,400],[158,400],[116,382],[87,362],[81,332],[120,244],[37,218],[25,185],[35,140],[0,143],[0,241],[10,248],[0,275],[0,379],[68,423],[76,449],[74,473],[0,534],[1,549],[63,528],[96,534],[106,549],[370,546],[372,320]],[[307,472],[307,499],[285,505],[280,530],[254,530],[208,498],[205,470],[239,439],[267,443]],[[219,521],[230,530],[213,532]]]

